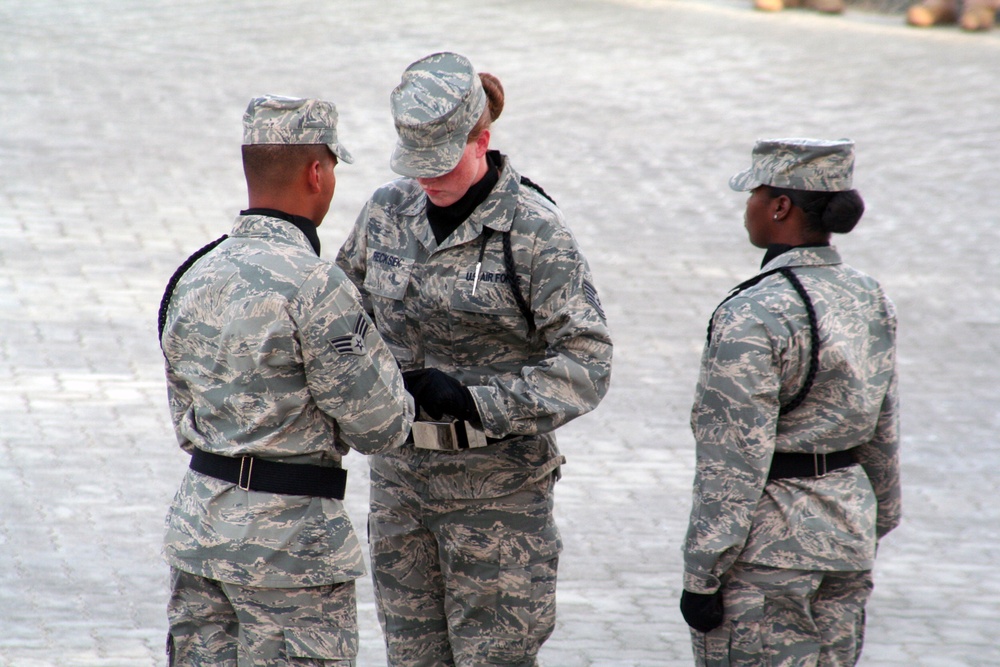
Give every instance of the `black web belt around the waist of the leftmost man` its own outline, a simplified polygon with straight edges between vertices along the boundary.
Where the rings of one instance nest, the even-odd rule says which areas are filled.
[[[347,487],[347,471],[343,468],[279,463],[254,456],[222,456],[201,449],[191,455],[191,470],[236,484],[244,491],[343,500]]]

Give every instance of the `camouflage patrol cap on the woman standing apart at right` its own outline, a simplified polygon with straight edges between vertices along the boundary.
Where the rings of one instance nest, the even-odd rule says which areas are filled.
[[[749,169],[729,179],[733,190],[760,185],[813,192],[851,189],[854,142],[850,139],[759,139]]]

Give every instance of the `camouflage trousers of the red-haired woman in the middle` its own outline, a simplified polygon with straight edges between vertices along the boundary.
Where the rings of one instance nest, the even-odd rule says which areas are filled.
[[[534,667],[555,627],[553,478],[436,500],[372,470],[369,543],[390,667]],[[397,480],[399,481],[399,480]]]

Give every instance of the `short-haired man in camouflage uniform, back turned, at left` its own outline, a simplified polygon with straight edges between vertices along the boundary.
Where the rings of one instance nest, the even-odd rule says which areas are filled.
[[[334,105],[260,97],[243,121],[250,209],[182,267],[161,309],[170,410],[192,454],[167,516],[168,653],[354,665],[364,565],[341,457],[398,446],[412,400],[357,290],[319,258],[334,167],[351,161]]]

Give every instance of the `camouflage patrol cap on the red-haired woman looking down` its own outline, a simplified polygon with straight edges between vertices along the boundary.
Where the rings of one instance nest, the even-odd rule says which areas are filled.
[[[469,132],[486,109],[486,92],[468,58],[443,52],[407,67],[390,103],[398,137],[392,170],[433,178],[462,159]]]

